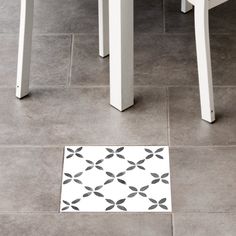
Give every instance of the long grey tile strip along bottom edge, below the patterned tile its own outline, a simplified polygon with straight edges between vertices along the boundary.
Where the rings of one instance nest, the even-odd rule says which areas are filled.
[[[171,215],[3,214],[0,215],[0,234],[8,236],[171,236]]]

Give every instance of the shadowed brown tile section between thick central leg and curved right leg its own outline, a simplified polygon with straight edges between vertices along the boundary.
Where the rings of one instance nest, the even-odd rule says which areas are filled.
[[[135,37],[134,54],[136,84],[180,86],[198,83],[192,36],[139,34]]]

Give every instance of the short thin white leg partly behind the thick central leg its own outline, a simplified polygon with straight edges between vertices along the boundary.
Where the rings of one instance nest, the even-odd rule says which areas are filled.
[[[98,0],[99,55],[109,55],[109,0]]]

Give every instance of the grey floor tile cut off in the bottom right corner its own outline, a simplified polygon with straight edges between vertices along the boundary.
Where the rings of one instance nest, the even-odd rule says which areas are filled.
[[[235,214],[174,214],[174,235],[234,236],[236,232],[235,222]]]

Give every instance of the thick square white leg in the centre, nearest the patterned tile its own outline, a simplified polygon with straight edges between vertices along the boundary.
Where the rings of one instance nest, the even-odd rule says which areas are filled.
[[[134,2],[110,0],[110,104],[120,111],[134,104]]]

